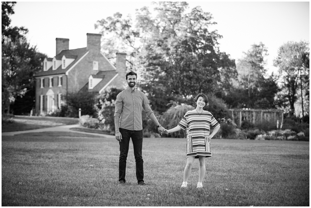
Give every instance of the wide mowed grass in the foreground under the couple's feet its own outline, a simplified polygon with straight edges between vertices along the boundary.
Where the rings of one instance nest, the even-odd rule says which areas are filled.
[[[131,142],[120,186],[114,138],[42,134],[2,137],[2,206],[309,206],[309,142],[213,139],[182,189],[185,139],[144,138],[141,187]]]

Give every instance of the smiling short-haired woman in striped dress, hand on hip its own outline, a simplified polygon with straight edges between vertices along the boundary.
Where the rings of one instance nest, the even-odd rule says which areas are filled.
[[[196,109],[188,111],[173,129],[165,129],[165,133],[173,133],[181,129],[187,129],[187,165],[183,172],[183,184],[181,187],[187,187],[188,178],[194,163],[194,159],[199,159],[199,182],[197,188],[202,188],[202,182],[205,176],[205,158],[211,157],[211,138],[220,129],[220,124],[209,111],[203,108],[208,106],[208,98],[200,93],[195,100]],[[210,134],[210,126],[214,131]]]

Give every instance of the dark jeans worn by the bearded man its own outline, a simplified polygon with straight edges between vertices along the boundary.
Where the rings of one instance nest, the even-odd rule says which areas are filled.
[[[122,135],[120,144],[120,156],[119,156],[119,181],[125,182],[125,170],[126,170],[126,158],[128,157],[128,146],[130,138],[132,138],[134,147],[134,156],[136,162],[136,178],[137,182],[143,182],[144,180],[144,161],[142,160],[142,130],[131,131],[127,129],[119,128]]]

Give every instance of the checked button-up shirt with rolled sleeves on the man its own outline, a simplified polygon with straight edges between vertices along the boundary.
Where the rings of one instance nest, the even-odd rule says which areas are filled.
[[[142,130],[142,109],[148,116],[153,113],[145,93],[126,88],[117,95],[114,116],[119,116],[119,128],[131,131]]]

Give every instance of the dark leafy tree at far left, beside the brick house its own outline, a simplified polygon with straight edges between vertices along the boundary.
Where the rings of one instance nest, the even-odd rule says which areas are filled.
[[[10,104],[16,98],[24,97],[19,102],[27,111],[33,108],[35,100],[34,75],[41,68],[45,55],[38,53],[26,40],[28,30],[21,27],[11,27],[9,15],[14,14],[13,6],[16,2],[2,2],[2,114],[10,112]],[[20,110],[21,106],[15,106]]]

